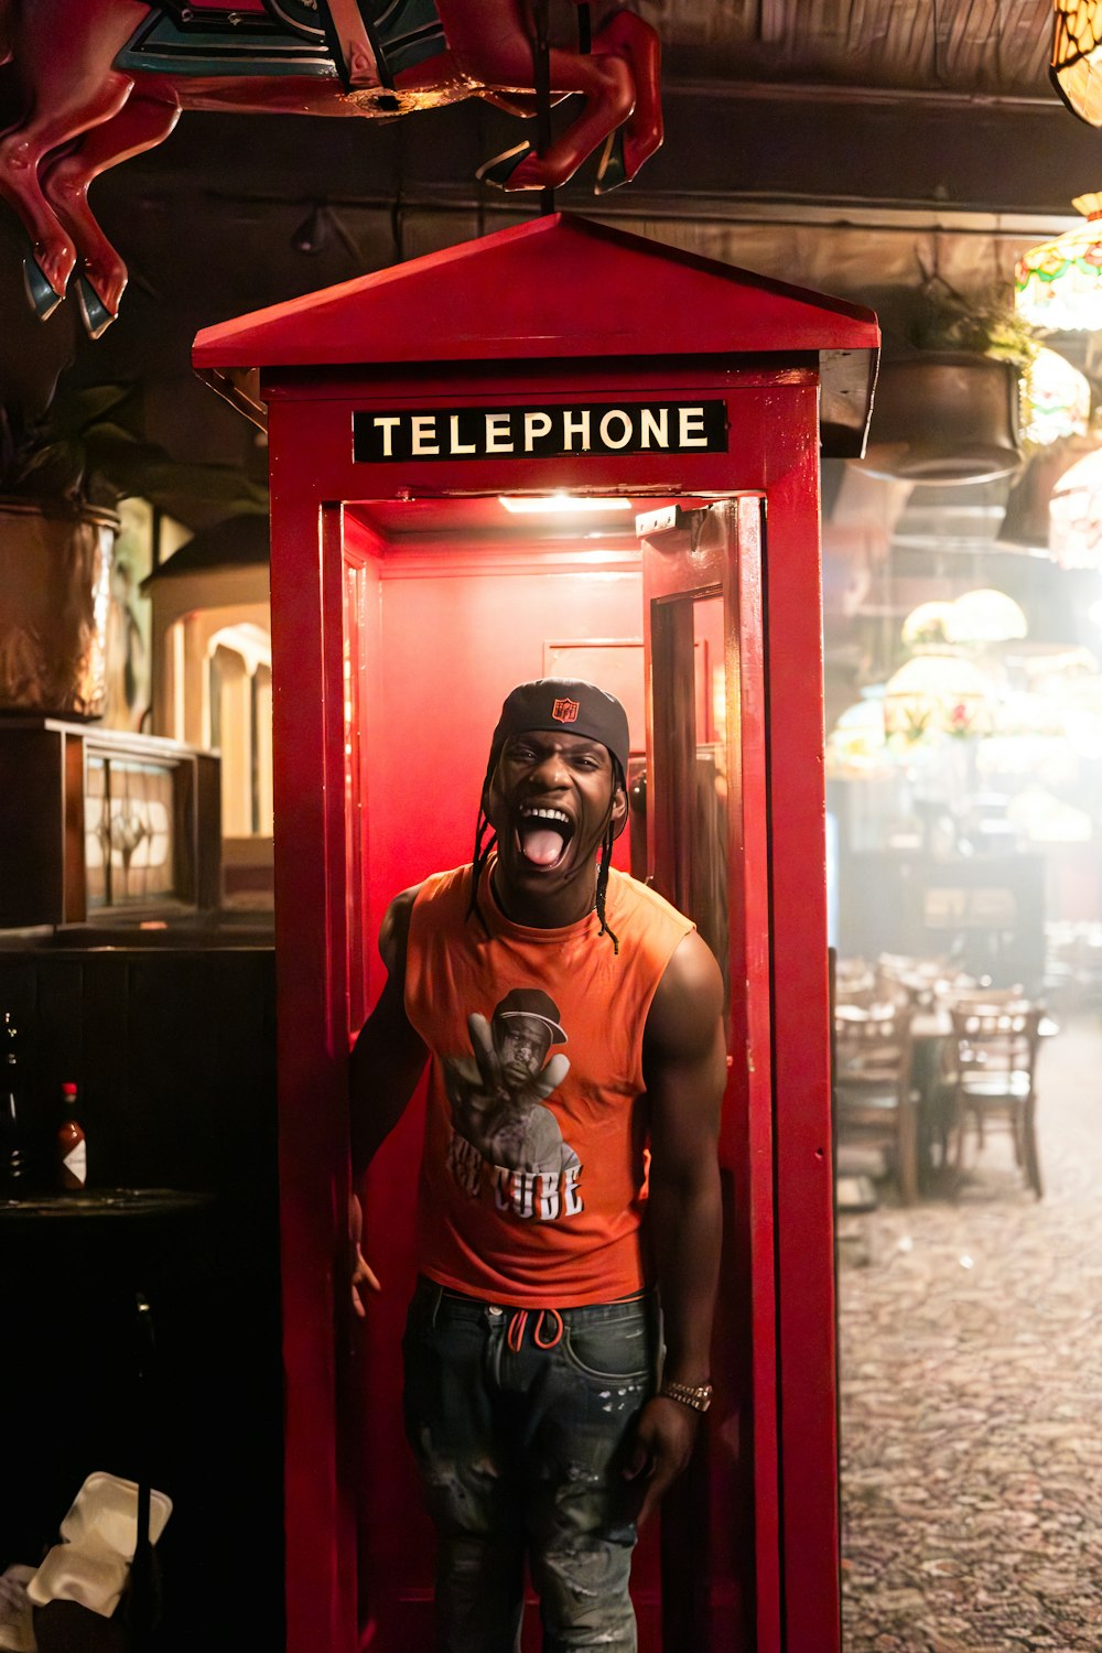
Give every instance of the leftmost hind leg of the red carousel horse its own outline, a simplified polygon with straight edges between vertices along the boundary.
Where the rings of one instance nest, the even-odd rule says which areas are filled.
[[[132,81],[111,64],[147,12],[119,0],[36,0],[33,28],[20,33],[18,73],[30,114],[0,137],[0,197],[31,238],[23,269],[43,317],[64,298],[76,248],[41,192],[38,169],[53,150],[122,107]]]

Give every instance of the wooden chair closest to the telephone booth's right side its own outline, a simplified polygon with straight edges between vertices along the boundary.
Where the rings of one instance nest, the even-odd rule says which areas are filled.
[[[887,1149],[904,1205],[919,1197],[917,1094],[910,1084],[910,1008],[839,1005],[834,1015],[839,1142]]]

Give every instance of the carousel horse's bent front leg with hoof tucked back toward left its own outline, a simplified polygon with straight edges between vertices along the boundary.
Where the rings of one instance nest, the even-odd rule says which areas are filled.
[[[532,89],[532,36],[519,0],[436,0],[448,50],[463,74],[492,93]],[[506,190],[542,190],[565,183],[610,132],[634,109],[631,64],[618,51],[583,56],[550,51],[550,84],[557,94],[582,93],[582,114],[545,155],[520,144],[496,155],[479,177]]]

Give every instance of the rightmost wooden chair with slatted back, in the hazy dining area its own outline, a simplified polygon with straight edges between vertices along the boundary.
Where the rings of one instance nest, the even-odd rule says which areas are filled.
[[[955,1129],[957,1174],[965,1164],[965,1137],[975,1127],[983,1149],[991,1126],[1006,1127],[1014,1160],[1041,1198],[1041,1160],[1036,1136],[1036,1086],[1043,1010],[1026,1000],[1001,1005],[958,1005],[952,1010],[957,1056]]]

